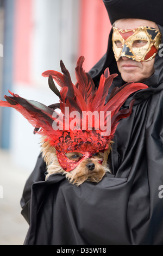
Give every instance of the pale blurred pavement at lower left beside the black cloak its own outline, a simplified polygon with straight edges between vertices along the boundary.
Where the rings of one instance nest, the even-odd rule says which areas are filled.
[[[20,199],[31,171],[0,149],[0,245],[23,245],[29,226],[21,215]]]

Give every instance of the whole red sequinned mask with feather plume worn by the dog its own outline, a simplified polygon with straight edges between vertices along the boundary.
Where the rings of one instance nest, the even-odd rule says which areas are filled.
[[[34,133],[46,136],[46,141],[57,150],[61,167],[67,172],[93,153],[109,148],[118,121],[131,113],[133,101],[128,109],[120,110],[124,101],[131,93],[147,88],[142,83],[127,83],[121,88],[116,87],[105,102],[112,80],[117,75],[109,75],[107,68],[97,89],[90,75],[84,71],[83,62],[84,57],[81,56],[76,66],[75,85],[62,61],[63,74],[53,70],[43,72],[42,76],[48,77],[49,87],[59,96],[60,103],[47,107],[11,92],[12,96],[4,96],[7,101],[0,101],[0,106],[13,107],[20,112],[35,127]],[[60,91],[53,80],[60,86]],[[67,152],[80,152],[83,157],[79,162],[71,163],[65,155]]]

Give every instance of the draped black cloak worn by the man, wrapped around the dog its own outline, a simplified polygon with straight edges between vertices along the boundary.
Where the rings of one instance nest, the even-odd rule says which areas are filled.
[[[109,2],[139,1],[104,1],[106,8]],[[157,23],[163,35],[161,22]],[[118,72],[111,34],[108,52],[90,71],[96,84],[106,66],[111,74]],[[59,174],[45,181],[46,164],[39,156],[21,199],[22,215],[29,223],[24,245],[163,245],[163,58],[159,55],[154,67],[154,74],[144,82],[149,88],[132,94],[123,105],[127,108],[136,99],[130,117],[117,126],[108,160],[112,174],[79,187]],[[118,76],[112,88],[122,84]]]

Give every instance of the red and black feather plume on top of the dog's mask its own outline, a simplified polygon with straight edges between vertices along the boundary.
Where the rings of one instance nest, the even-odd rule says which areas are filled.
[[[58,114],[51,107],[47,107],[40,102],[23,99],[17,94],[11,93],[12,96],[6,96],[7,101],[0,101],[0,106],[13,107],[20,112],[30,124],[35,127],[35,131],[40,133],[42,136],[47,136],[49,142],[60,150],[73,150],[79,147],[83,150],[103,150],[108,147],[108,141],[112,139],[118,121],[122,118],[126,118],[131,113],[131,107],[133,101],[130,102],[128,109],[120,110],[124,101],[128,96],[137,90],[148,88],[142,83],[127,83],[120,88],[115,88],[109,97],[108,102],[105,103],[108,90],[112,84],[112,80],[117,74],[110,75],[109,69],[104,71],[99,81],[98,89],[95,88],[92,78],[83,69],[84,57],[81,56],[78,59],[76,66],[76,86],[71,81],[70,74],[65,68],[64,63],[61,61],[61,71],[63,74],[48,70],[42,73],[42,76],[49,77],[49,87],[57,94],[60,98],[60,103],[57,106],[61,109],[61,113]],[[55,87],[54,81],[61,87],[60,92]],[[51,105],[53,106],[53,105]],[[92,126],[92,130],[88,130],[88,124],[86,125],[87,130],[71,130],[64,131],[65,123],[67,120],[65,117],[65,107],[69,107],[69,113],[72,111],[78,111],[80,113],[80,119],[82,119],[83,111],[104,111],[105,119],[104,124],[106,125],[106,117],[109,111],[111,111],[111,133],[106,137],[101,135],[101,130],[96,130]],[[55,117],[54,114],[55,113]],[[70,121],[72,118],[70,118]],[[82,128],[82,122],[79,121],[80,128]],[[96,125],[100,121],[94,120],[93,124]],[[53,125],[58,124],[62,126],[62,130],[54,130]],[[39,128],[41,127],[41,130]],[[101,127],[101,125],[100,125]],[[37,131],[39,130],[39,131]]]

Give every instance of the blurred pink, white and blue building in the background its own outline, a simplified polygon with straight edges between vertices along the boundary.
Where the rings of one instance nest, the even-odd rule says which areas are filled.
[[[60,71],[62,59],[75,81],[78,57],[89,71],[106,52],[110,27],[102,0],[0,0],[0,99],[10,89],[45,105],[58,102],[42,72]],[[20,113],[0,109],[0,148],[20,166],[33,169],[39,138]]]

